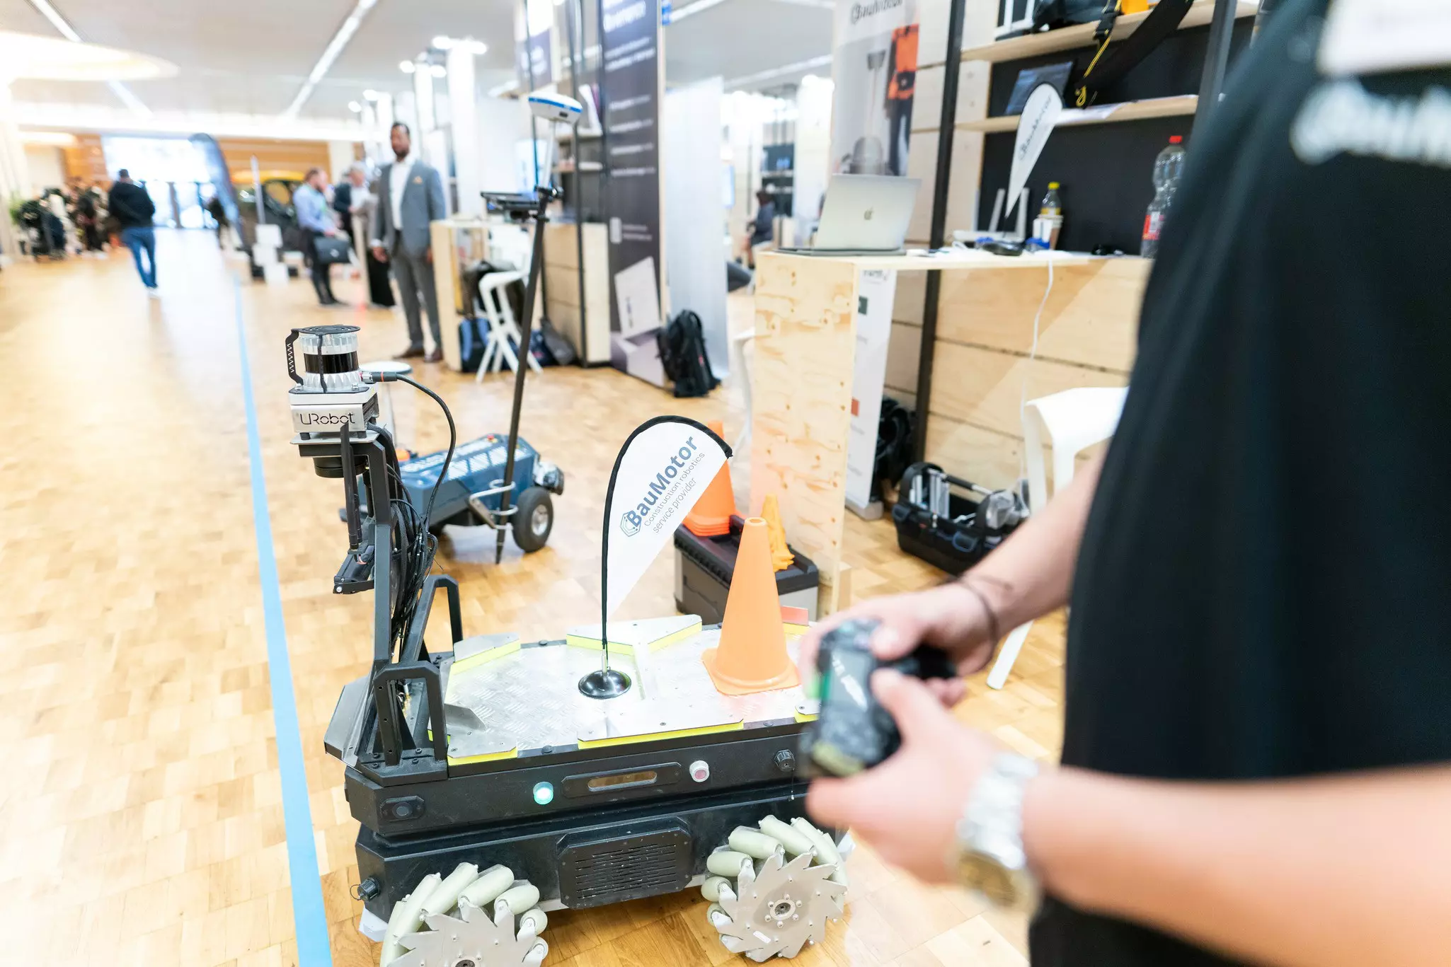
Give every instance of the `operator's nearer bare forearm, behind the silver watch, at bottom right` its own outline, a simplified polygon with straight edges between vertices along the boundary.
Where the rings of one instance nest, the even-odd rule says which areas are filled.
[[[1062,900],[1286,967],[1451,963],[1451,767],[1188,784],[1065,768],[1024,841]]]

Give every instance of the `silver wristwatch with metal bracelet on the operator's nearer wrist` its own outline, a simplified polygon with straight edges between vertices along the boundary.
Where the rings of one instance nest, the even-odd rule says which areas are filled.
[[[1037,903],[1037,879],[1023,848],[1023,796],[1037,776],[1037,763],[1001,752],[972,787],[958,821],[952,868],[958,881],[995,906],[1030,910]]]

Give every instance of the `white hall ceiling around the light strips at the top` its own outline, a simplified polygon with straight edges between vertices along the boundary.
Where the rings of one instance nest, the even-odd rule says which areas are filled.
[[[821,0],[807,0],[820,4]],[[176,64],[173,78],[131,81],[155,112],[273,116],[296,97],[354,0],[51,0],[94,43],[151,54]],[[479,86],[512,78],[515,0],[379,0],[332,70],[302,107],[302,117],[344,120],[364,88],[403,91],[411,59],[435,35],[489,45]],[[678,3],[679,7],[688,6]],[[0,29],[58,36],[28,0],[0,0]],[[593,32],[591,30],[591,35]],[[591,41],[593,38],[591,36]],[[726,0],[666,29],[669,83],[747,77],[830,52],[831,12],[801,0]],[[829,68],[817,68],[826,72]],[[800,77],[750,87],[776,87]],[[16,81],[17,101],[122,107],[106,86]]]

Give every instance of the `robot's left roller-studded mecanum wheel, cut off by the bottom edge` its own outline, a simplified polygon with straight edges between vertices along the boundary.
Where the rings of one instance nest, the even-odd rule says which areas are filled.
[[[508,867],[431,873],[393,905],[380,967],[538,967],[548,955],[538,900],[538,887]]]

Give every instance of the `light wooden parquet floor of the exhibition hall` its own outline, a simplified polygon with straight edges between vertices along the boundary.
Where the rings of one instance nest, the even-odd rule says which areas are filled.
[[[385,312],[324,310],[306,281],[244,283],[205,233],[160,232],[164,297],[148,302],[129,258],[17,264],[0,273],[0,887],[4,964],[281,967],[297,963],[251,518],[237,345],[238,302],[254,373],[264,476],[334,963],[377,963],[355,929],[353,839],[342,767],[322,732],[370,649],[367,596],[337,597],[344,534],[335,481],[289,445],[281,339],[290,326],[358,322],[364,357],[403,342]],[[340,283],[355,299],[357,283]],[[750,304],[733,303],[734,325]],[[419,367],[463,439],[506,429],[509,378]],[[431,402],[395,390],[399,429],[441,447]],[[531,377],[522,432],[567,474],[548,548],[454,531],[444,570],[463,590],[469,634],[559,635],[596,618],[599,515],[615,449],[662,412],[723,418],[739,393],[676,402],[612,370]],[[744,464],[744,460],[741,460]],[[734,468],[739,486],[749,474]],[[737,491],[743,496],[743,491]],[[849,518],[853,593],[942,576],[900,554],[887,522]],[[662,555],[622,616],[672,613]],[[963,719],[1053,757],[1061,734],[1062,623],[1040,622],[1010,686],[972,683]],[[850,860],[846,921],[797,963],[903,967],[1024,963],[1020,918],[956,890],[927,889],[869,848]],[[699,896],[560,912],[554,967],[737,961]],[[746,963],[746,961],[740,961]]]

